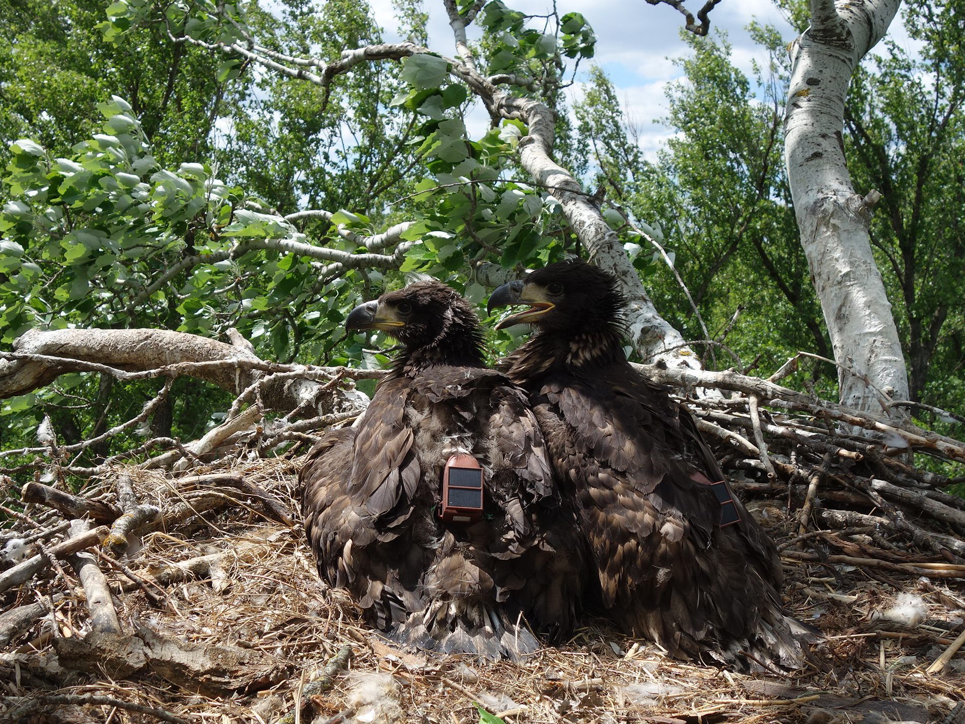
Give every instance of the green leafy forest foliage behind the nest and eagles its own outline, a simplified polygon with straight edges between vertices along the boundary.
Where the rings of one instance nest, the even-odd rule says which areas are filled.
[[[727,32],[698,37],[677,33],[669,8],[641,6],[624,23],[628,42],[625,29],[622,40],[605,33],[625,7],[510,6],[479,12],[473,52],[518,97],[556,111],[555,159],[593,194],[660,314],[704,341],[693,345],[703,366],[767,376],[798,350],[832,357],[782,148],[786,46],[807,9],[763,7],[754,19],[724,3],[713,19]],[[952,410],[965,333],[960,6],[902,6],[853,78],[842,136],[855,190],[884,194],[870,239],[909,398]],[[216,44],[255,39],[280,65],[379,42],[452,55],[441,8],[3,0],[0,127],[13,143],[0,149],[2,348],[38,327],[215,339],[236,329],[263,359],[378,367],[386,345],[345,337],[342,322],[406,272],[482,303],[488,287],[579,251],[552,189],[519,169],[526,126],[489,127],[436,56],[360,63],[315,83]],[[665,95],[655,126],[624,93],[641,58],[672,78],[650,83]],[[491,343],[495,358],[518,339]],[[806,373],[786,383],[837,397],[833,365]],[[359,384],[371,391],[372,380]],[[0,444],[29,447],[45,416],[77,444],[131,420],[162,388],[61,376],[3,402]],[[77,462],[147,437],[194,439],[232,400],[179,377],[140,425],[83,447]],[[915,414],[956,432],[947,415]]]

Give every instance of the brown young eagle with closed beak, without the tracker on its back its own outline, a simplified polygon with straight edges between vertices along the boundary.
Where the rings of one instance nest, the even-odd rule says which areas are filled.
[[[329,432],[301,473],[318,571],[348,589],[372,625],[442,652],[515,657],[572,630],[583,544],[567,519],[525,393],[483,368],[472,306],[419,282],[361,305],[350,328],[403,346],[353,429]],[[449,457],[482,463],[482,520],[436,515]]]

